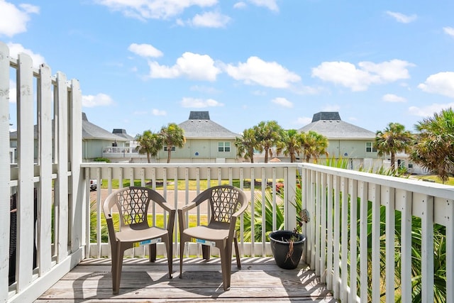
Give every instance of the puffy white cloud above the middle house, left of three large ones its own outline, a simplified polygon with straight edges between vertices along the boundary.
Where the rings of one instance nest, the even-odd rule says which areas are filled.
[[[177,78],[187,77],[189,79],[214,81],[221,72],[214,65],[214,60],[209,55],[184,53],[177,59],[175,65],[169,67],[160,65],[157,62],[148,62],[151,78]]]

